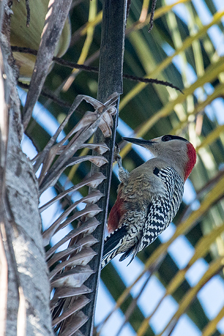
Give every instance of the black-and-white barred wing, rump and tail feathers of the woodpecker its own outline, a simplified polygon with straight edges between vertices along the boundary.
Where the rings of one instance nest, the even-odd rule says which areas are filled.
[[[163,195],[154,195],[148,206],[144,204],[142,209],[125,214],[122,226],[105,239],[102,267],[122,252],[125,253],[120,261],[129,254],[134,257],[151,244],[175,217],[182,201],[184,182],[172,167],[159,170],[157,178],[165,187]]]

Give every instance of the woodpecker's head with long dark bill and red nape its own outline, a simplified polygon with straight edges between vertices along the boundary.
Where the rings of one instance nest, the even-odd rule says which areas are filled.
[[[176,169],[184,181],[196,163],[196,151],[187,139],[176,135],[163,135],[152,140],[122,138],[125,141],[147,148],[155,157],[160,157]]]

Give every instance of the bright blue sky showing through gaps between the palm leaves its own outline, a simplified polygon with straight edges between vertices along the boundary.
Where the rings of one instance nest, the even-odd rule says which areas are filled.
[[[166,1],[168,4],[175,2],[171,0]],[[201,17],[203,24],[208,24],[212,15],[208,8],[205,6],[203,0],[193,0],[194,5]],[[218,10],[224,9],[224,1],[222,0],[214,0],[214,3]],[[174,11],[177,15],[179,15],[186,23],[189,19],[189,16],[186,15],[186,10],[184,4],[179,4],[174,7]],[[224,21],[223,21],[224,22]],[[218,26],[211,27],[209,30],[210,37],[214,43],[214,46],[217,49],[217,53],[219,56],[224,55],[224,36],[219,29]],[[164,45],[165,52],[170,55],[173,53],[172,48],[169,45]],[[177,68],[181,67],[181,59],[179,56],[175,57],[173,63]],[[194,70],[188,65],[187,69],[188,82],[193,83],[197,76],[194,73]],[[213,91],[213,87],[210,84],[205,85],[204,87],[206,94],[211,94]],[[25,93],[19,90],[19,95],[22,103],[25,101]],[[199,91],[198,94],[201,94]],[[197,92],[196,92],[197,95]],[[212,103],[212,106],[207,107],[206,113],[212,119],[216,117],[220,124],[224,123],[224,104],[222,99],[217,99]],[[40,103],[37,103],[34,111],[33,117],[40,123],[44,128],[49,132],[49,134],[53,134],[58,127],[58,121],[51,116],[51,114],[42,107]],[[130,129],[122,120],[119,120],[118,132],[121,135],[131,136],[132,129]],[[63,136],[63,134],[61,135]],[[23,151],[29,156],[35,156],[35,148],[32,146],[31,141],[24,136],[22,142]],[[151,158],[151,154],[144,148],[133,145],[134,150],[138,152],[138,154],[144,159],[148,160]],[[117,166],[114,167],[114,173],[117,175]],[[61,179],[63,180],[63,176]],[[68,186],[70,187],[70,186]],[[185,184],[185,192],[183,201],[186,204],[191,203],[195,199],[195,190],[188,180]],[[40,203],[44,204],[49,199],[55,196],[55,192],[53,188],[49,188],[40,199]],[[73,200],[76,201],[80,198],[79,193],[75,193],[73,195]],[[81,205],[82,207],[84,205]],[[194,203],[194,207],[197,208],[199,206],[198,202]],[[60,213],[62,212],[60,208],[60,204],[55,203],[52,207],[49,208],[48,211],[43,212],[42,220],[44,228],[48,227],[54,219],[56,219]],[[66,227],[64,229],[64,234],[66,234],[70,230],[70,227]],[[175,225],[170,224],[170,226],[159,236],[159,239],[164,242],[167,241],[175,232]],[[58,235],[55,235],[52,239],[52,243],[56,243],[61,238],[61,232]],[[178,237],[169,247],[168,253],[176,263],[176,265],[181,269],[185,267],[188,263],[192,255],[194,254],[194,247],[190,244],[185,236]],[[143,270],[144,265],[142,262],[136,257],[132,263],[126,267],[128,260],[123,261],[122,263],[118,262],[118,257],[114,258],[112,261],[113,266],[116,268],[119,273],[122,281],[126,286],[130,285],[137,276]],[[186,279],[189,282],[190,286],[194,286],[202,277],[202,275],[208,269],[208,264],[204,259],[199,259],[187,272]],[[144,281],[146,281],[149,274],[145,274],[142,279],[132,288],[131,295],[135,297],[141,287],[143,286]],[[152,275],[150,280],[147,282],[143,294],[140,296],[137,304],[139,309],[142,311],[143,315],[147,317],[153,309],[156,307],[158,301],[162,298],[165,293],[164,286],[159,282],[156,276]],[[221,308],[224,306],[224,281],[223,279],[217,275],[213,277],[206,286],[204,286],[199,294],[198,299],[200,300],[206,315],[209,319],[213,319],[219,313]],[[97,302],[97,310],[96,310],[96,324],[100,324],[102,320],[112,311],[114,307],[114,300],[108,292],[106,286],[101,281],[99,288],[99,296]],[[150,326],[153,331],[158,334],[163,328],[166,326],[166,323],[173,316],[173,314],[178,309],[177,302],[171,297],[168,296],[164,299],[160,308],[153,315]],[[123,313],[120,310],[117,310],[113,313],[112,317],[109,319],[108,323],[102,329],[102,336],[115,336],[119,331],[119,328],[122,326],[124,321]],[[224,334],[224,319],[219,323],[219,330]],[[135,335],[132,327],[127,323],[119,333],[120,336],[132,336]],[[177,323],[176,328],[172,332],[172,336],[199,336],[201,335],[200,330],[197,326],[190,320],[187,315],[184,315],[179,322]]]

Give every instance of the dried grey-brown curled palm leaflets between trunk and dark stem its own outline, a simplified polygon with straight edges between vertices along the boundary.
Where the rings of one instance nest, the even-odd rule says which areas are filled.
[[[95,112],[86,112],[72,130],[57,142],[58,135],[83,100],[91,104]],[[55,186],[67,167],[84,161],[90,161],[98,167],[108,163],[108,160],[102,155],[109,150],[108,146],[105,143],[95,144],[87,143],[87,141],[97,127],[100,127],[105,137],[111,136],[112,116],[116,113],[114,106],[116,100],[117,96],[113,95],[107,103],[102,104],[88,96],[76,97],[68,115],[56,133],[45,148],[32,160],[35,171],[40,169],[38,178],[40,194],[47,188]],[[77,151],[81,148],[93,149],[98,155],[79,156]],[[98,243],[98,240],[92,233],[100,222],[94,216],[102,211],[96,203],[104,196],[96,188],[105,178],[101,172],[88,175],[77,185],[68,189],[64,188],[62,192],[39,209],[40,212],[45,211],[53,203],[63,200],[64,197],[84,186],[91,188],[87,196],[80,196],[79,200],[72,202],[57,220],[42,233],[44,245],[49,246],[55,233],[60,232],[71,223],[74,227],[55,245],[50,246],[46,252],[50,268],[49,280],[53,293],[51,299],[52,325],[59,335],[72,335],[88,320],[88,317],[80,310],[90,302],[86,294],[90,293],[92,289],[86,287],[84,282],[94,273],[88,265],[89,261],[97,254],[92,246]],[[77,210],[80,203],[86,203],[85,209]],[[69,246],[57,252],[57,249],[65,242],[69,242]],[[67,322],[68,317],[71,316],[72,322],[71,320]]]

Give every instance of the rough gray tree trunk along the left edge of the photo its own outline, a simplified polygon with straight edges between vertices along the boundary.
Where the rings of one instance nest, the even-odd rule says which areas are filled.
[[[6,103],[1,102],[0,111],[0,243],[7,264],[2,252],[0,335],[48,336],[53,335],[50,288],[41,237],[38,187],[32,164],[20,147],[23,132],[20,101],[7,36],[10,11],[6,1],[1,1],[0,6],[0,82],[3,83],[0,96]]]

